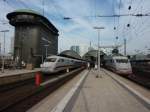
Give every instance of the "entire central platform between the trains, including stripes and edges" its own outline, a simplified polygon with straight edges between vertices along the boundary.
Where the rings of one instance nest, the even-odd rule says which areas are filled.
[[[77,79],[78,82],[69,84],[72,89],[67,89],[68,92],[48,96],[29,112],[149,112],[150,110],[149,90],[139,89],[142,87],[105,69],[100,72],[84,71]],[[141,96],[137,97],[135,94]]]

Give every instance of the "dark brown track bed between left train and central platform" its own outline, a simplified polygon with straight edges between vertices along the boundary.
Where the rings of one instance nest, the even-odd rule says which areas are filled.
[[[0,111],[25,112],[82,70],[83,68],[79,68],[64,75],[56,75],[49,78],[48,83],[41,84],[39,87],[36,87],[34,81],[31,81],[31,83],[23,84],[20,87],[11,88],[10,91],[1,92]]]

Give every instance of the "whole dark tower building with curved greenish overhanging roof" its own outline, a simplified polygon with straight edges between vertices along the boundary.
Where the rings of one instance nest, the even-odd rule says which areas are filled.
[[[33,10],[8,13],[9,23],[15,26],[14,60],[39,67],[47,55],[58,52],[58,30],[44,16]]]

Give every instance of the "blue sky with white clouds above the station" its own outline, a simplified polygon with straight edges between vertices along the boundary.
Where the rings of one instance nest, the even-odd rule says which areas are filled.
[[[129,10],[129,6],[131,9]],[[97,49],[98,31],[100,46],[120,45],[123,53],[123,40],[127,40],[127,54],[149,53],[150,16],[98,17],[104,15],[150,14],[150,0],[0,0],[0,31],[6,33],[6,53],[10,52],[14,27],[9,25],[7,13],[16,9],[32,9],[51,21],[59,30],[58,51],[79,45],[81,55],[87,52],[90,42]],[[69,17],[70,19],[64,19]],[[129,26],[127,26],[129,24]],[[4,34],[0,32],[2,52]],[[118,39],[116,39],[118,37]],[[109,52],[111,49],[107,49]]]

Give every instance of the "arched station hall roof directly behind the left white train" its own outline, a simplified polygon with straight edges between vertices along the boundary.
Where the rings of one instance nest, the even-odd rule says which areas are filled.
[[[66,56],[66,57],[81,59],[81,56],[73,50],[65,50],[65,51],[61,52],[59,54],[59,56]]]

